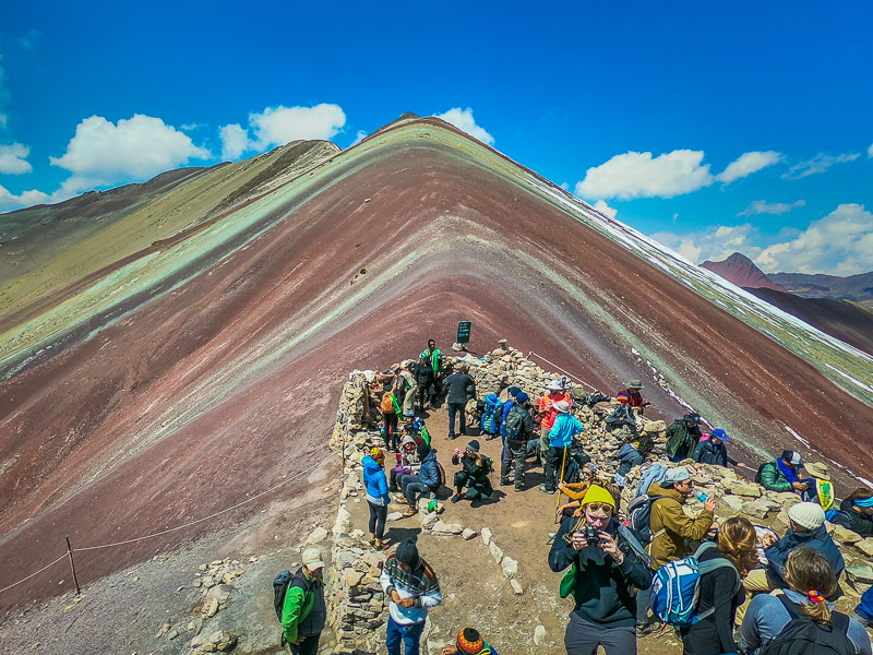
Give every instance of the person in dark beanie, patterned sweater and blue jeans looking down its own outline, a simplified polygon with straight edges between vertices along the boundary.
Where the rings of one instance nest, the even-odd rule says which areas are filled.
[[[443,600],[436,573],[418,555],[415,537],[404,539],[388,557],[379,576],[388,598],[388,626],[385,646],[388,655],[418,655],[428,609]]]

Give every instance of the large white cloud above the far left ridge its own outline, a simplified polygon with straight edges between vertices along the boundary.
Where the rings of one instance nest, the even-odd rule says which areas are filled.
[[[159,118],[135,114],[118,124],[101,116],[84,119],[67,152],[49,160],[73,174],[60,190],[69,196],[95,187],[146,180],[189,159],[210,157],[212,153]]]

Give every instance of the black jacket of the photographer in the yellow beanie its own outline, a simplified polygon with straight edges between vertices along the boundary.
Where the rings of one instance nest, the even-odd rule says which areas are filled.
[[[611,555],[599,546],[573,548],[567,538],[581,523],[578,519],[564,519],[549,550],[549,568],[559,573],[576,564],[573,611],[581,618],[609,628],[631,627],[636,622],[636,595],[634,587],[647,590],[651,585],[651,571],[642,563],[633,549],[618,534],[619,523],[610,521],[606,532],[618,539],[624,556],[617,564]]]

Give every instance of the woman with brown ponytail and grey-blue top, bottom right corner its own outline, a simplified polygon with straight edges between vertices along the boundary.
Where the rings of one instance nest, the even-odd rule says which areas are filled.
[[[743,653],[756,654],[776,639],[781,641],[781,635],[788,638],[782,632],[794,617],[805,616],[826,626],[827,632],[833,630],[845,634],[849,640],[847,646],[850,650],[847,652],[871,655],[870,636],[864,627],[854,618],[835,616],[834,605],[827,602],[827,597],[836,592],[837,576],[826,557],[811,548],[798,548],[788,555],[785,570],[788,587],[782,594],[760,594],[749,605],[740,633]],[[800,647],[806,653],[835,652],[825,650],[823,643],[811,642],[806,634],[804,638],[803,641],[786,643],[788,648],[780,652],[796,653]]]

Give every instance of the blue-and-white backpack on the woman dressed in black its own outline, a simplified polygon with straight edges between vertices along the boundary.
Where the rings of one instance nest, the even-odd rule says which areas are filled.
[[[701,595],[701,576],[721,568],[737,568],[723,557],[698,562],[701,555],[717,548],[711,541],[704,541],[691,557],[667,562],[655,572],[649,591],[651,611],[665,623],[674,627],[687,627],[705,619],[715,611],[710,607],[702,614],[695,614]],[[740,574],[737,572],[736,594],[740,588]]]

